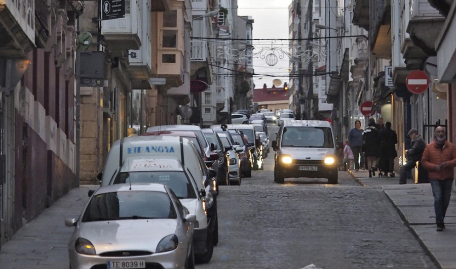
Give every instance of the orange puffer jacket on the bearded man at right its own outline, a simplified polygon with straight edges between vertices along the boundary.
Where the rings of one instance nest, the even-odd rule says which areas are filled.
[[[442,162],[446,162],[445,167],[436,171],[435,166]],[[443,149],[440,149],[435,142],[432,142],[426,146],[421,163],[429,171],[429,179],[431,180],[453,178],[453,167],[456,166],[456,146],[445,141]]]

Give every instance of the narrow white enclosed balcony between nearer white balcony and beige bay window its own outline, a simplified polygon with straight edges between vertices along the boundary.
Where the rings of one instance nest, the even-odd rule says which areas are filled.
[[[149,77],[152,76],[151,65],[152,65],[152,49],[151,49],[151,13],[150,7],[142,2],[142,45],[139,50],[129,51],[129,66],[127,72],[130,76],[132,88],[134,89],[150,89],[148,82]]]

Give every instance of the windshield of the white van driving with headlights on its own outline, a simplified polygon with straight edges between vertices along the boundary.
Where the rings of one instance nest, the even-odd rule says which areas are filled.
[[[290,126],[283,128],[282,147],[334,148],[331,128]]]

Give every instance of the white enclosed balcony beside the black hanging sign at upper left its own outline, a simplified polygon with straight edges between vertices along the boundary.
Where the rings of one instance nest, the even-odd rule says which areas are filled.
[[[125,17],[101,22],[101,33],[109,50],[139,50],[143,13],[141,0],[125,2]]]

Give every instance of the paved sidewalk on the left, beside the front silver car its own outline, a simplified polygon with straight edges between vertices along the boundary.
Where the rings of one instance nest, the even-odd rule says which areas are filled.
[[[67,244],[73,228],[66,227],[64,219],[77,218],[89,201],[88,191],[97,188],[81,186],[72,189],[22,227],[10,241],[1,245],[0,268],[69,268]],[[62,264],[67,265],[62,267]]]

